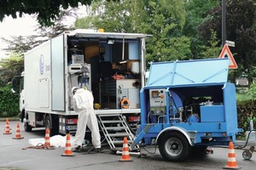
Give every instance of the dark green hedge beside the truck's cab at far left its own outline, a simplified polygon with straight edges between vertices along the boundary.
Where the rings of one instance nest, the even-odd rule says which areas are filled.
[[[10,84],[0,87],[0,117],[19,114],[19,96],[11,93]]]

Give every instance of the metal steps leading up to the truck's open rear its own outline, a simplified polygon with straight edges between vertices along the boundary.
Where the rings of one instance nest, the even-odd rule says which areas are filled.
[[[127,137],[128,144],[132,144],[135,135],[125,121],[125,117],[119,114],[97,114],[99,125],[105,139],[108,141],[110,150],[122,150],[124,137]],[[138,146],[136,146],[138,149]]]

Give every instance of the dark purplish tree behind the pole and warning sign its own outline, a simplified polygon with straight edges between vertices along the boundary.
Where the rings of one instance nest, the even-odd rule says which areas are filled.
[[[247,74],[249,82],[255,77],[254,63],[256,62],[256,5],[255,0],[227,0],[226,1],[226,39],[236,42],[235,48],[230,48],[238,69],[232,71],[232,82],[242,73]],[[201,36],[209,39],[211,30],[217,32],[221,39],[221,6],[212,8],[210,17],[199,27]],[[220,46],[220,44],[219,44]]]

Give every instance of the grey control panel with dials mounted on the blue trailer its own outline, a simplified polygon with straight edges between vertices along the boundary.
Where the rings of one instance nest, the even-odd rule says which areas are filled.
[[[166,114],[166,89],[149,89],[150,114]]]

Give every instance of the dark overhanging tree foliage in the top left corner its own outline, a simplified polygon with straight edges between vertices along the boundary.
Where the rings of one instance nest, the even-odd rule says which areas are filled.
[[[23,14],[38,14],[38,23],[41,26],[51,26],[60,16],[61,8],[77,8],[79,3],[90,5],[91,2],[92,0],[1,0],[0,21],[3,21],[5,15],[17,18],[17,15],[21,17]]]

